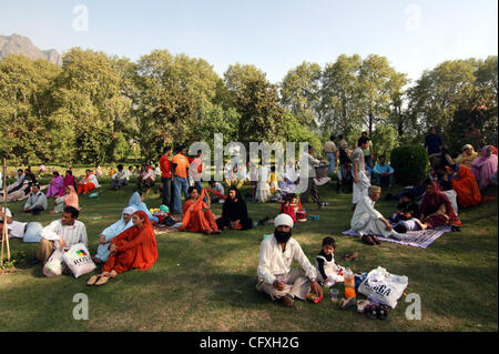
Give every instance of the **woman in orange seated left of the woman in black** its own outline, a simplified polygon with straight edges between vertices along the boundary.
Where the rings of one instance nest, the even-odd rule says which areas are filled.
[[[179,231],[204,232],[205,234],[222,233],[216,225],[213,212],[210,210],[210,198],[206,199],[207,203],[204,202],[207,190],[203,189],[200,195],[194,186],[190,186],[187,192],[191,198],[185,201],[182,208],[183,219]],[[225,195],[222,196],[225,198]]]

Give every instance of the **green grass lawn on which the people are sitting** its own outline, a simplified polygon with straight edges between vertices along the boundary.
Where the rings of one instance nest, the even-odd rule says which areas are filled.
[[[133,185],[109,191],[103,185],[96,199],[80,196],[80,221],[85,223],[89,247],[96,251],[100,232],[118,221]],[[160,257],[146,272],[120,274],[104,286],[86,286],[90,274],[45,277],[42,266],[0,275],[0,326],[2,331],[498,331],[498,209],[488,203],[460,211],[462,232],[446,233],[427,250],[384,242],[379,246],[343,236],[349,229],[352,194],[336,194],[332,185],[319,188],[329,205],[318,211],[306,204],[318,221],[299,223],[293,230],[305,254],[315,264],[322,240],[336,240],[336,259],[359,252],[354,272],[386,267],[407,275],[406,293],[420,295],[422,318],[406,320],[404,297],[388,321],[369,320],[355,310],[342,311],[326,296],[319,304],[297,301],[294,309],[272,302],[255,290],[258,249],[272,225],[222,235],[169,233],[157,235]],[[385,191],[384,191],[385,194]],[[497,195],[497,189],[489,191]],[[146,198],[157,208],[157,194]],[[9,208],[19,221],[33,219],[47,225],[57,215],[21,214],[22,202]],[[396,202],[379,201],[388,215]],[[53,200],[49,202],[53,208]],[[214,208],[221,213],[221,205]],[[254,221],[275,216],[277,204],[248,203]],[[37,253],[38,244],[11,240],[11,250]],[[339,262],[344,265],[343,262]],[[342,286],[338,286],[340,292]],[[89,320],[73,320],[73,296],[89,296]]]

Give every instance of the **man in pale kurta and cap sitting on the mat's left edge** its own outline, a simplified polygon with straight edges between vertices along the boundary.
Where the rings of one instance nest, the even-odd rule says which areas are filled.
[[[354,216],[350,222],[350,231],[365,234],[380,235],[383,237],[396,236],[399,234],[393,230],[391,224],[374,209],[376,201],[381,195],[381,188],[373,185],[368,188],[368,194],[363,195],[355,208]]]

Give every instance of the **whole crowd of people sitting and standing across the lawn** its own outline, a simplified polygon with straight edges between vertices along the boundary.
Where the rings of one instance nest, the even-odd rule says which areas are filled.
[[[374,184],[386,182],[391,186],[393,169],[386,163],[386,159],[380,156],[379,163],[373,169],[376,178],[373,181],[368,172],[369,159],[366,160],[365,151],[369,149],[369,138],[363,135],[356,144],[352,155],[347,156],[352,163],[349,174],[353,180],[353,216],[350,230],[358,233],[361,239],[369,243],[379,243],[378,236],[405,240],[409,231],[435,229],[444,225],[452,227],[460,226],[457,205],[460,208],[473,206],[482,203],[481,191],[489,184],[497,184],[497,149],[485,146],[481,154],[473,152],[472,146],[465,145],[464,152],[456,160],[452,160],[446,149],[441,149],[438,159],[432,159],[431,174],[422,185],[406,189],[397,196],[399,204],[397,213],[385,218],[375,209],[376,201],[379,200],[381,188]],[[345,143],[340,143],[342,146]],[[342,160],[342,151],[339,155]],[[308,164],[309,174],[308,188],[298,198],[296,204],[307,202],[312,196],[319,208],[320,198],[317,192],[315,179],[315,166],[320,163],[312,156],[313,150],[305,153],[305,163]],[[253,196],[257,201],[265,201],[268,191],[279,190],[284,195],[297,198],[296,186],[299,176],[296,173],[296,165],[293,161],[285,166],[283,179],[277,179],[275,170],[265,170],[248,162],[243,175],[246,179],[240,180],[240,174],[234,179],[228,179],[227,194],[221,183],[211,181],[208,188],[203,188],[198,179],[194,183],[189,182],[189,173],[200,176],[201,173],[201,151],[196,158],[187,159],[186,149],[180,146],[173,159],[170,160],[171,149],[164,149],[164,155],[160,160],[162,180],[163,204],[173,211],[172,215],[180,214],[181,218],[173,219],[174,226],[179,231],[187,231],[205,234],[220,234],[224,230],[245,231],[253,227],[253,221],[248,215],[246,202],[241,195],[237,185],[248,182],[253,189]],[[345,158],[345,156],[344,156]],[[193,168],[194,164],[194,168]],[[340,164],[340,170],[344,165]],[[151,213],[144,203],[145,194],[142,190],[150,190],[154,185],[157,171],[152,169],[150,163],[142,165],[136,174],[138,191],[129,201],[129,205],[123,209],[120,220],[108,226],[99,235],[99,246],[93,260],[103,264],[101,273],[93,275],[89,280],[89,285],[102,285],[118,274],[140,269],[150,269],[157,260],[157,245],[154,227],[161,224],[160,218]],[[342,170],[342,180],[345,175]],[[254,175],[265,178],[254,181]],[[111,188],[119,189],[129,183],[132,175],[130,169],[124,171],[122,165],[118,166],[118,172],[113,173]],[[268,178],[267,178],[268,176]],[[173,183],[172,183],[173,179]],[[86,175],[78,181],[68,170],[62,178],[58,172],[53,172],[53,179],[49,184],[47,194],[40,191],[35,176],[29,170],[19,170],[18,179],[8,188],[8,196],[18,191],[23,191],[24,185],[30,186],[29,199],[23,205],[24,212],[38,214],[47,210],[47,198],[54,198],[55,208],[53,212],[62,212],[60,220],[53,221],[43,227],[40,223],[21,223],[13,220],[11,212],[2,210],[0,213],[4,227],[7,224],[9,236],[21,237],[24,242],[39,242],[37,259],[47,262],[54,250],[69,249],[77,243],[88,244],[85,225],[78,221],[79,198],[81,193],[89,193],[99,188],[96,174],[86,170]],[[265,183],[268,183],[266,185]],[[191,185],[193,184],[193,185]],[[172,186],[173,185],[173,186]],[[181,204],[181,191],[184,191],[184,203]],[[454,191],[454,192],[452,192]],[[455,199],[452,200],[452,193]],[[4,196],[6,198],[6,196]],[[299,199],[302,199],[299,201]],[[223,203],[222,215],[215,216],[211,210],[212,203]],[[283,204],[284,205],[284,204]],[[283,299],[286,305],[293,305],[294,299],[306,297],[308,292],[322,295],[319,283],[328,284],[342,281],[342,267],[334,261],[334,240],[324,240],[323,251],[314,267],[301,249],[298,242],[292,239],[294,222],[293,212],[282,212],[274,219],[274,234],[264,237],[259,251],[259,264],[257,269],[257,290],[268,294],[273,300]],[[297,261],[303,270],[292,270],[293,261]],[[334,270],[334,274],[326,274],[325,270]]]

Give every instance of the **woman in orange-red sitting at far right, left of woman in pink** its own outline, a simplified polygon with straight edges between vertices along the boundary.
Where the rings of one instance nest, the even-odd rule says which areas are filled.
[[[471,170],[462,164],[454,166],[436,166],[437,175],[442,181],[449,182],[457,193],[457,202],[460,208],[470,208],[481,204],[481,193],[477,180]]]

